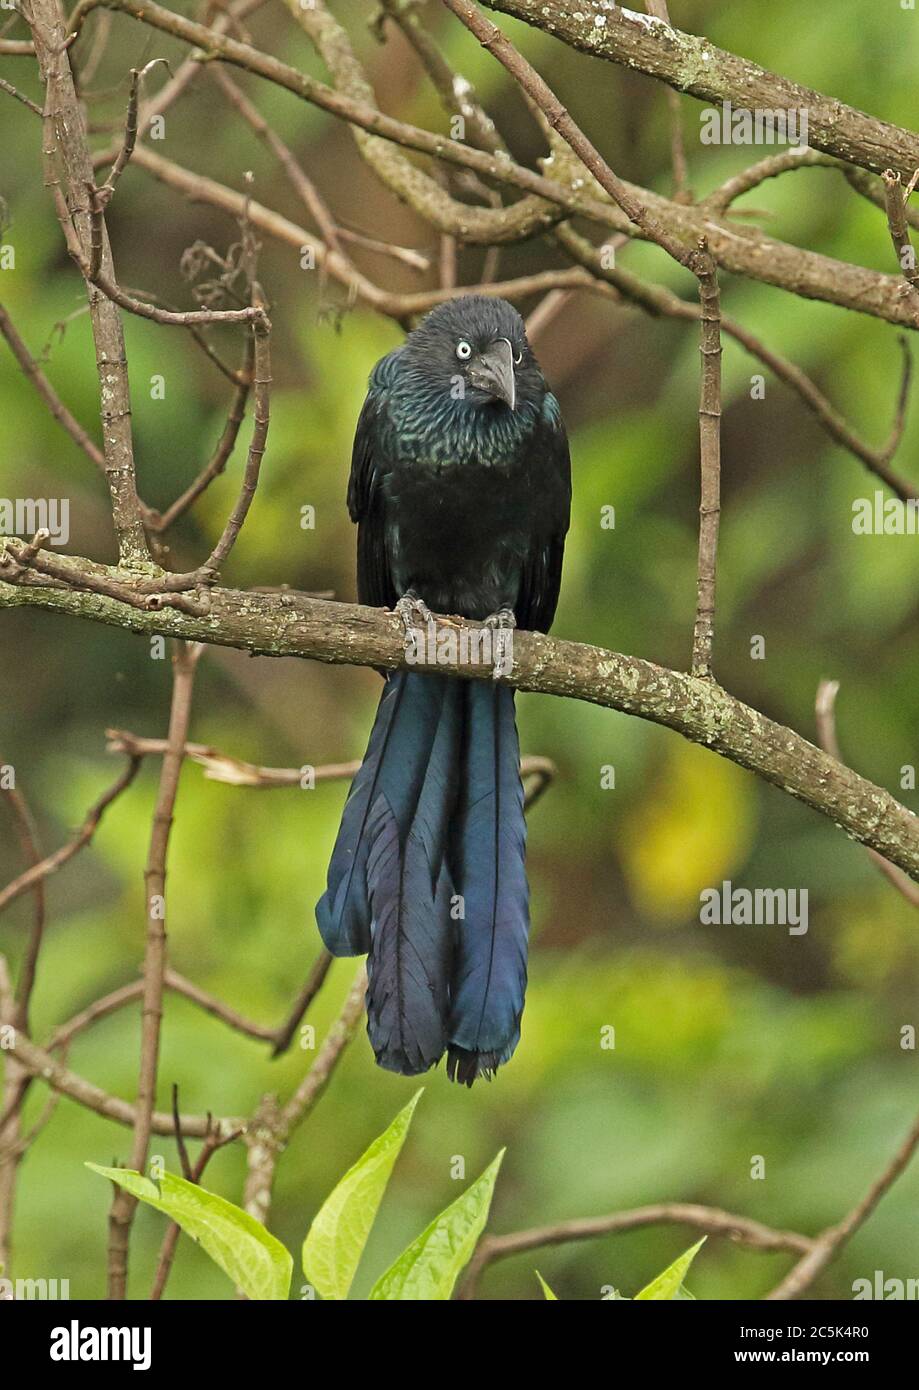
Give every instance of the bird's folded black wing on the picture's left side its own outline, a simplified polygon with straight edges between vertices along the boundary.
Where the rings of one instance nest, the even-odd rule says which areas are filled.
[[[395,353],[389,354],[391,357]],[[387,555],[382,481],[387,464],[381,424],[387,409],[387,371],[389,359],[374,368],[370,391],[355,431],[355,445],[348,480],[348,512],[357,523],[357,598],[370,607],[393,607],[396,594]]]

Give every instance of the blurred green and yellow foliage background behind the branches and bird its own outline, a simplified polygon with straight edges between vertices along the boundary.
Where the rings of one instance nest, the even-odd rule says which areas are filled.
[[[192,13],[188,3],[177,8]],[[444,117],[405,46],[368,35],[370,4],[336,3],[350,24],[387,107],[442,128]],[[523,158],[541,153],[517,96],[498,67],[456,25],[427,6],[446,51]],[[827,21],[791,0],[673,0],[674,22],[801,82],[893,121],[915,115],[919,15],[898,4],[837,0]],[[257,43],[320,72],[281,6],[249,21]],[[562,97],[613,167],[635,182],[670,188],[662,90],[641,76],[562,49],[507,24],[528,56],[551,72]],[[18,31],[17,31],[18,32]],[[115,17],[113,43],[93,86],[95,122],[118,122],[127,68],[179,46]],[[0,71],[39,96],[28,61]],[[881,81],[883,75],[883,81]],[[153,79],[152,79],[153,81]],[[157,76],[158,82],[160,78]],[[291,142],[336,214],[378,236],[435,252],[434,238],[360,165],[349,133],[286,93],[247,90]],[[0,95],[1,96],[1,95]],[[96,430],[97,384],[81,286],[67,263],[40,178],[40,125],[3,100],[0,195],[10,208],[6,240],[15,271],[0,297],[33,352],[53,339],[49,374],[71,409]],[[264,149],[229,113],[204,74],[167,117],[164,153],[234,188],[256,175],[256,196],[302,218],[295,196]],[[699,104],[684,121],[697,193],[762,152],[702,147]],[[104,136],[101,136],[104,139]],[[893,270],[883,215],[838,175],[786,175],[749,195],[769,231],[829,256]],[[741,206],[745,206],[741,204]],[[184,203],[129,170],[110,210],[121,281],[188,302],[178,263],[196,238],[225,247],[231,220]],[[502,274],[555,263],[541,245],[507,249]],[[692,286],[653,247],[630,246],[623,265],[690,295]],[[392,288],[417,288],[412,272],[366,257]],[[475,279],[481,252],[462,253]],[[355,539],[343,493],[350,436],[367,373],[399,341],[399,329],[352,311],[321,313],[336,292],[299,270],[291,249],[266,243],[261,279],[275,322],[273,421],[263,484],[236,546],[232,584],[331,588],[353,596]],[[795,300],[776,289],[723,278],[727,311],[791,356],[866,438],[887,435],[898,378],[895,331],[877,320]],[[64,332],[54,332],[67,321]],[[227,382],[178,331],[127,322],[140,488],[164,505],[213,449],[227,410]],[[238,339],[220,339],[227,354]],[[602,300],[578,299],[539,342],[571,434],[574,514],[556,632],[653,660],[685,666],[695,596],[697,392],[695,332]],[[919,541],[854,537],[851,505],[875,481],[820,432],[799,400],[767,378],[731,342],[724,352],[724,512],[719,569],[716,666],[720,680],[769,716],[813,733],[820,677],[841,681],[840,739],[873,780],[901,791],[900,770],[916,762],[916,577]],[[149,381],[165,377],[165,400]],[[97,474],[0,356],[3,495],[70,496],[71,548],[113,555],[106,489]],[[243,427],[243,439],[247,425]],[[897,466],[915,477],[919,413],[913,409]],[[221,480],[177,528],[174,560],[188,567],[220,532],[238,486],[241,449]],[[314,531],[300,507],[316,507]],[[616,507],[616,528],[601,507]],[[765,659],[751,659],[751,638]],[[26,610],[0,621],[0,755],[17,769],[43,844],[61,844],[114,777],[107,727],[160,735],[168,666],[145,639]],[[250,660],[214,649],[200,667],[192,737],[253,760],[299,766],[360,753],[377,699],[370,671],[300,662]],[[492,1086],[427,1081],[414,1141],[393,1176],[371,1236],[368,1268],[385,1268],[406,1241],[457,1193],[455,1158],[482,1169],[507,1147],[492,1227],[660,1200],[713,1202],[780,1226],[816,1232],[838,1219],[883,1166],[905,1131],[916,1094],[916,1054],[900,1047],[916,1023],[915,910],[876,873],[863,852],[829,821],[777,790],[676,734],[606,710],[521,696],[524,752],[553,758],[559,778],[530,824],[532,892],[531,983],[523,1041]],[[616,769],[616,788],[601,769]],[[101,992],[132,979],[142,956],[142,866],[156,767],[146,766],[106,817],[92,849],[49,883],[49,931],[32,1027],[50,1030]],[[279,1020],[318,949],[313,903],[346,788],[252,791],[182,774],[170,853],[170,951],[178,970],[247,1015]],[[4,813],[6,815],[6,813]],[[3,881],[21,867],[4,824]],[[698,892],[730,878],[747,887],[809,892],[809,931],[702,927]],[[13,966],[31,920],[18,902],[0,926]],[[321,1038],[339,1008],[352,962],[338,962],[314,1006]],[[615,1029],[616,1047],[601,1045]],[[70,1063],[132,1097],[138,1011],[125,1009],[79,1037]],[[170,997],[160,1102],[181,1087],[182,1108],[252,1111],[264,1091],[289,1093],[311,1052],[298,1045],[271,1062],[242,1040]],[[405,1105],[413,1083],[373,1065],[366,1038],[352,1044],[334,1084],[296,1134],[279,1166],[271,1227],[293,1248],[341,1176]],[[33,1088],[29,1118],[44,1101]],[[29,1152],[18,1194],[13,1269],[18,1276],[70,1277],[74,1297],[104,1290],[110,1194],[83,1166],[128,1156],[124,1130],[61,1101]],[[154,1151],[175,1168],[171,1143]],[[755,1155],[765,1180],[751,1179]],[[221,1151],[209,1186],[238,1200],[243,1154]],[[908,1173],[815,1289],[851,1295],[852,1280],[883,1269],[916,1272],[919,1172]],[[145,1297],[161,1219],[140,1211],[131,1294]],[[640,1230],[539,1252],[539,1270],[559,1298],[598,1298],[603,1284],[640,1289],[673,1257],[673,1230]],[[484,1297],[539,1298],[532,1258],[489,1270]],[[710,1240],[694,1270],[699,1298],[756,1297],[788,1257]],[[355,1286],[366,1297],[368,1284]],[[170,1297],[224,1298],[224,1276],[182,1243]]]

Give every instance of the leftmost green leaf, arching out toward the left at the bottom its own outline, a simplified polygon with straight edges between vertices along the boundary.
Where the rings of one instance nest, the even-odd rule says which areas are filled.
[[[172,1173],[164,1173],[154,1183],[125,1168],[100,1168],[97,1163],[86,1163],[86,1168],[118,1183],[147,1207],[165,1212],[247,1298],[288,1297],[293,1272],[291,1252],[242,1208]]]

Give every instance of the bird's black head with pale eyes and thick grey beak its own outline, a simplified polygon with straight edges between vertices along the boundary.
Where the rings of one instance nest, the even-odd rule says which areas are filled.
[[[523,318],[505,299],[452,299],[409,334],[405,363],[428,392],[477,409],[517,411],[545,395]]]

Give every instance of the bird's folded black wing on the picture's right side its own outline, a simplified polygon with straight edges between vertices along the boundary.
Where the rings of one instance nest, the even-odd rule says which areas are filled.
[[[534,531],[520,584],[517,623],[534,632],[548,632],[559,602],[564,537],[571,512],[569,438],[552,393],[545,398],[531,449]]]

